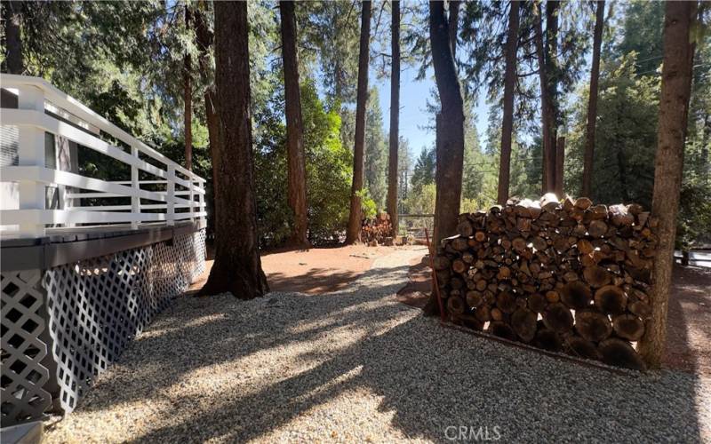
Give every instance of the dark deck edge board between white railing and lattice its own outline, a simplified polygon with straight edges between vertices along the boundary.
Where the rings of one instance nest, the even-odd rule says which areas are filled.
[[[172,241],[180,234],[194,233],[204,222],[164,224],[139,230],[125,226],[108,230],[68,232],[36,239],[3,239],[0,241],[0,271],[19,271],[61,266],[86,258],[97,258],[117,251],[139,248],[156,242]]]

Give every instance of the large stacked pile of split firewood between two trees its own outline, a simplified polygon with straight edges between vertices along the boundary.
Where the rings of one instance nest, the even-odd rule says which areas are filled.
[[[657,220],[637,204],[546,194],[462,214],[437,249],[451,321],[549,351],[643,369]]]

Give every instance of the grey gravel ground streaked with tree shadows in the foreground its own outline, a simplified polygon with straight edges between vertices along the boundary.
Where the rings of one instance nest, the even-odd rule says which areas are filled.
[[[711,380],[619,376],[398,303],[421,254],[395,251],[328,295],[181,297],[46,440],[711,440]]]

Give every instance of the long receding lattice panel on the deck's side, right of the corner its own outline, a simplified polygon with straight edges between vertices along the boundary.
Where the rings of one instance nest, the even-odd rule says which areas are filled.
[[[49,297],[52,354],[60,405],[76,408],[92,381],[119,357],[172,297],[204,269],[204,230],[114,255],[52,268]]]

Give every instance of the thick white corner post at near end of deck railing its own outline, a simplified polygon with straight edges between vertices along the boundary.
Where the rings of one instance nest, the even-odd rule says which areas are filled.
[[[44,113],[44,92],[35,86],[18,89],[18,107]],[[18,165],[44,167],[44,131],[31,125],[19,127]],[[44,184],[35,180],[20,180],[18,183],[20,210],[44,210],[46,192]],[[44,236],[44,224],[28,220],[20,223],[20,235]]]

